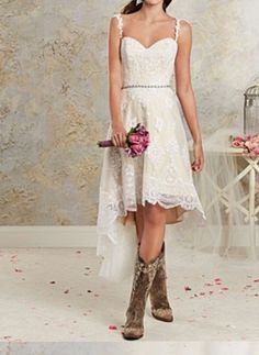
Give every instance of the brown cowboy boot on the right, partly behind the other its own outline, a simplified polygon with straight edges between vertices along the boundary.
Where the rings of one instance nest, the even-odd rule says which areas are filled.
[[[161,253],[159,255],[159,263],[156,276],[149,291],[151,303],[151,314],[154,318],[164,322],[172,322],[172,309],[167,297],[167,274],[165,259],[165,241],[162,243]]]

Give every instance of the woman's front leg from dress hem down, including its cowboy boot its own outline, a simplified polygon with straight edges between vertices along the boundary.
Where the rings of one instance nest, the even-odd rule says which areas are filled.
[[[146,300],[160,262],[158,254],[164,240],[165,212],[160,206],[148,203],[138,208],[135,220],[140,247],[137,248],[131,299],[123,330],[123,336],[127,340],[136,340],[144,334]]]

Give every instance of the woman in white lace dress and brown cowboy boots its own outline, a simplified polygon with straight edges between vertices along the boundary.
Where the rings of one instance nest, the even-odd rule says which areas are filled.
[[[122,332],[127,340],[144,334],[148,295],[154,318],[173,320],[166,285],[166,224],[182,221],[185,211],[206,219],[192,180],[204,158],[190,78],[191,25],[167,14],[170,2],[134,0],[110,22],[108,137],[114,147],[104,152],[98,255],[104,257],[100,275],[109,278],[116,262],[128,256],[122,225],[135,223],[137,256]],[[193,137],[192,164],[177,97]],[[148,130],[150,142],[142,156],[132,158],[123,148],[126,132],[138,122]]]

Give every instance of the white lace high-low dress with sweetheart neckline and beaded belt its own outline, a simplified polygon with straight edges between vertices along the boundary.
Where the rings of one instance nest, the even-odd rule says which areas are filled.
[[[99,276],[121,281],[133,274],[137,203],[158,202],[167,209],[167,224],[182,221],[185,211],[198,222],[206,217],[193,185],[185,131],[171,86],[180,20],[171,37],[145,47],[124,36],[121,13],[113,16],[121,37],[124,127],[128,131],[140,122],[150,140],[144,154],[134,158],[120,147],[103,148],[97,223],[97,255],[102,256]],[[111,134],[110,124],[106,138]]]

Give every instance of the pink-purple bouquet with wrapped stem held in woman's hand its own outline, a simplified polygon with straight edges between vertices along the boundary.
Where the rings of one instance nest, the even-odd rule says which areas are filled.
[[[124,151],[131,157],[136,157],[142,155],[149,143],[149,133],[142,123],[137,123],[136,126],[132,127],[126,134],[126,144],[127,147]],[[114,146],[112,140],[109,141],[99,141],[98,146],[109,147]]]

